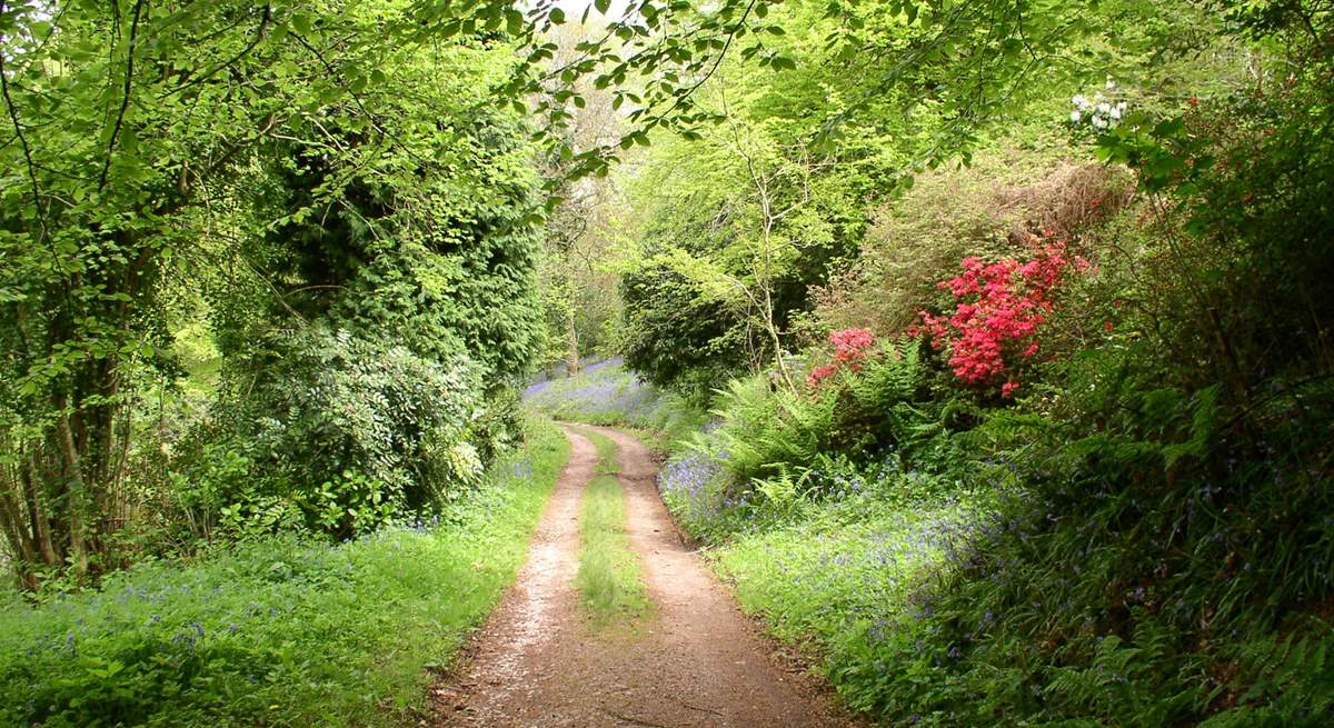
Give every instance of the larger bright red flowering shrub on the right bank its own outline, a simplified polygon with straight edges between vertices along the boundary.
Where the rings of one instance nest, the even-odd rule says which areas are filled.
[[[954,313],[923,311],[922,325],[908,329],[908,336],[930,335],[932,348],[947,349],[950,367],[966,384],[999,383],[1003,397],[1019,388],[1017,367],[1038,353],[1038,327],[1053,309],[1053,291],[1071,265],[1087,268],[1082,259],[1070,257],[1065,243],[1033,240],[1035,255],[1027,263],[963,259],[963,275],[938,284],[958,301]]]

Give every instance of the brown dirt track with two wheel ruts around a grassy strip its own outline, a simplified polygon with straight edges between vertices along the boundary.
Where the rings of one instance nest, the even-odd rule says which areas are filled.
[[[658,465],[616,443],[627,529],[655,616],[595,632],[579,607],[579,500],[598,460],[572,449],[515,587],[434,689],[442,727],[852,727],[827,684],[784,664],[691,551],[658,497]]]

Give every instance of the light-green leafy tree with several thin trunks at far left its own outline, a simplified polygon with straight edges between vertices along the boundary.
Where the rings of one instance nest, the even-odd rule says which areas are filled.
[[[388,41],[364,7],[5,3],[4,524],[25,564],[97,567],[128,517],[129,408],[169,371],[159,295],[232,231],[276,137],[323,139]],[[358,109],[344,123],[374,124]]]

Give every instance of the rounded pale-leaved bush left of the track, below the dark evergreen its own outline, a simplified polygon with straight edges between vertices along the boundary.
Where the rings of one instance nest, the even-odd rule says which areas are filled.
[[[181,480],[233,527],[273,531],[299,512],[335,536],[367,533],[474,488],[507,435],[462,355],[436,363],[317,329],[272,348],[231,380],[216,432],[200,433],[215,441],[183,459]]]

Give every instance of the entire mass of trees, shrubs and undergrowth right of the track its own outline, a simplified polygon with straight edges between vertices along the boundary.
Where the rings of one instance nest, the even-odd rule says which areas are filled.
[[[863,48],[914,48],[918,11],[895,9],[907,28],[868,23]],[[627,363],[719,389],[718,423],[667,464],[663,497],[744,605],[814,637],[850,703],[891,724],[1331,720],[1330,9],[1143,11],[1082,8],[1055,45],[1086,44],[1095,75],[1037,43],[1037,93],[980,101],[970,140],[896,84],[916,119],[939,113],[922,124],[942,131],[932,144],[972,165],[860,188],[848,209],[866,224],[843,260],[786,279],[795,295],[771,273],[820,251],[820,228],[766,245],[784,221],[743,217],[764,195],[718,157],[690,152],[707,161],[668,177],[691,164],[672,143],[647,163],[650,188],[679,201],[650,203],[664,213],[638,229],[626,341],[652,357],[627,348]],[[1095,17],[1107,35],[1077,40]],[[1010,36],[1025,55],[1030,41]],[[795,48],[798,68],[858,88],[828,48]],[[967,61],[938,60],[924,76],[964,83]],[[747,109],[750,133],[790,109],[746,107],[744,89],[800,85],[748,76],[702,99]],[[850,128],[880,120],[858,111]],[[722,157],[738,139],[696,144]],[[891,160],[920,141],[878,139]],[[811,159],[855,179],[850,149]],[[774,179],[802,196],[806,177]]]

